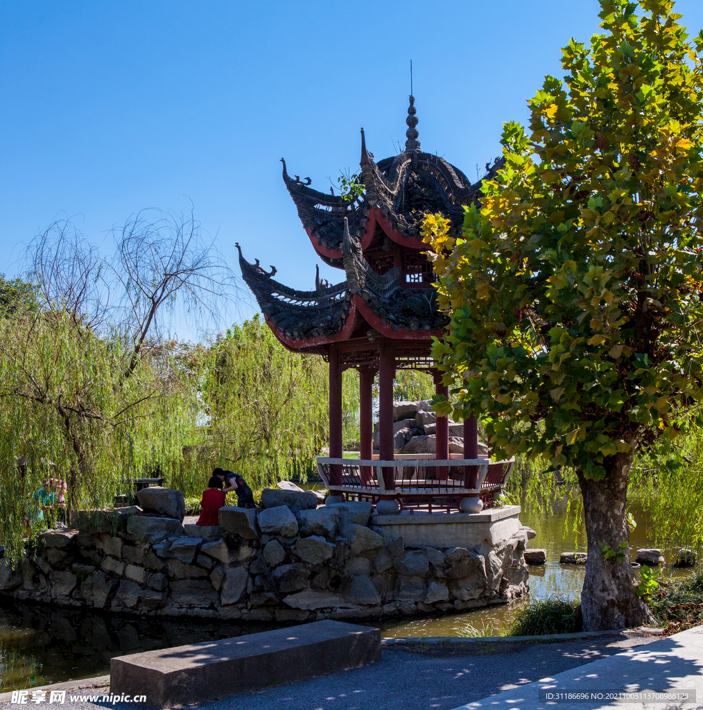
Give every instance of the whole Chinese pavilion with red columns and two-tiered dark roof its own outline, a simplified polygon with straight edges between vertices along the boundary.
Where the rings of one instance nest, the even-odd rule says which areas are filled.
[[[342,484],[342,471],[348,469],[348,466],[342,469],[342,464],[334,461],[342,459],[342,372],[347,368],[359,371],[360,459],[356,477],[353,475],[351,481],[358,485],[351,488],[356,497],[368,498],[369,486],[380,485],[378,495],[370,496],[375,500],[399,499],[398,481],[393,478],[393,471],[398,471],[393,465],[401,466],[401,479],[403,471],[410,477],[415,474],[411,466],[389,464],[394,461],[396,370],[428,371],[434,376],[437,393],[447,393],[430,353],[432,337],[442,338],[449,319],[437,308],[432,263],[427,258],[427,245],[420,237],[421,223],[426,214],[440,212],[451,222],[449,233],[461,234],[464,207],[476,200],[481,187],[481,180],[472,184],[454,165],[420,150],[414,102],[415,98],[410,96],[405,121],[407,141],[399,155],[376,163],[374,155],[366,149],[361,129],[359,180],[364,190],[351,199],[334,195],[334,190],[330,190],[331,194],[313,190],[310,178],[300,180],[298,175],[291,178],[282,160],[283,180],[313,248],[322,261],[344,272],[344,280],[329,285],[317,271],[315,290],[294,290],[273,280],[276,274],[273,266],[267,272],[259,266],[258,259],[254,264],[246,261],[239,244],[236,245],[242,276],[278,340],[294,352],[322,355],[329,363],[330,458],[326,461],[330,464],[331,487]],[[486,165],[486,178],[491,178],[498,167],[497,161],[490,168]],[[376,371],[380,444],[377,459],[389,464],[378,468],[379,474],[382,471],[380,484],[370,483],[374,470],[369,464],[374,460],[371,392]],[[454,466],[449,471],[448,440],[448,420],[437,417],[436,459],[447,466],[437,466],[434,478],[445,481],[457,469]],[[476,419],[471,417],[464,422],[463,460],[476,464],[476,459]],[[348,461],[344,459],[345,464]],[[476,471],[480,468],[466,466],[467,478],[462,478],[459,486],[464,494],[469,490],[476,493]],[[485,474],[484,470],[484,477]],[[481,497],[486,503],[492,500],[492,496],[486,499],[485,491]],[[429,500],[431,510],[431,496]],[[403,504],[402,500],[399,502]]]

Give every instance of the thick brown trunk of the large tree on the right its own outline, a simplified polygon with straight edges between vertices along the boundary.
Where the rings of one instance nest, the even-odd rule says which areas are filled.
[[[588,537],[581,594],[584,631],[633,628],[653,621],[646,604],[635,593],[630,562],[627,487],[632,459],[632,453],[607,457],[603,462],[606,476],[601,481],[586,479],[578,471]],[[621,550],[623,541],[628,546]],[[614,559],[605,557],[610,550],[616,555]]]

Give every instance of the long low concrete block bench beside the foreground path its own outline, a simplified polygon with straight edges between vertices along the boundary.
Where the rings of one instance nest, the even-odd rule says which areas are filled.
[[[315,621],[113,658],[110,692],[146,695],[147,705],[170,708],[378,660],[377,628]]]

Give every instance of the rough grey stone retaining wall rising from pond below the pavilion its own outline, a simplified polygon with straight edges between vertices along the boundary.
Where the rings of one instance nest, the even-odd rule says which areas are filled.
[[[527,533],[471,549],[407,547],[370,523],[370,503],[317,508],[309,493],[268,491],[256,510],[222,508],[219,528],[82,512],[51,531],[0,594],[143,616],[313,621],[454,612],[523,596]]]

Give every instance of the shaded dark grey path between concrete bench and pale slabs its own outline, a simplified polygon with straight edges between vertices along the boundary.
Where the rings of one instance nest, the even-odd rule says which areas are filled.
[[[384,649],[382,660],[372,665],[204,702],[190,710],[450,710],[652,640],[611,636],[532,645],[501,643],[501,648],[484,648],[479,655],[476,648],[470,655],[472,650],[463,647],[462,651],[459,644],[428,648],[432,655]],[[67,692],[65,705],[45,707],[136,709],[133,704],[79,699],[93,694],[98,693]],[[2,701],[0,706],[5,707]]]

